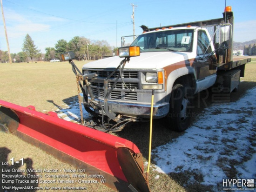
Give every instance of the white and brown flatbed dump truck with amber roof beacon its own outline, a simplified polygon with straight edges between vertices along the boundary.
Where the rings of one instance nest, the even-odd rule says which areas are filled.
[[[234,17],[226,7],[222,18],[148,28],[119,57],[85,64],[81,105],[91,119],[86,126],[120,131],[132,121],[166,118],[182,132],[191,121],[193,95],[211,86],[231,93],[250,59],[233,60]]]

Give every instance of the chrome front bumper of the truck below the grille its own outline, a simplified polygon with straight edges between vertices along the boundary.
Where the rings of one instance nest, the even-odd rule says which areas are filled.
[[[83,98],[83,95],[80,94]],[[91,99],[88,98],[88,103],[90,103]],[[104,101],[95,99],[95,101],[100,102],[102,106],[104,106]],[[83,98],[83,102],[85,104],[85,100]],[[115,114],[121,114],[124,116],[131,117],[141,117],[141,118],[150,118],[151,105],[145,104],[137,104],[137,103],[125,103],[125,102],[117,102],[108,100],[108,108],[109,111],[114,112]],[[161,104],[155,104],[153,106],[153,118],[160,119],[167,115],[169,112],[169,103],[164,102]]]

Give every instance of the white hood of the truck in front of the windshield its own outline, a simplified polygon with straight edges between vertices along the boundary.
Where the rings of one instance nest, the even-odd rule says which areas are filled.
[[[131,57],[130,61],[125,64],[125,69],[162,69],[164,66],[168,66],[180,61],[195,58],[193,53],[187,52],[146,52],[141,53],[140,56]],[[107,59],[97,60],[87,63],[83,68],[116,68],[121,60],[118,56],[110,57]]]

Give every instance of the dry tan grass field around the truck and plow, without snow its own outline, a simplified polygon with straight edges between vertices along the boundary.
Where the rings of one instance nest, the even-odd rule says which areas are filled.
[[[81,68],[84,61],[75,62]],[[232,93],[231,101],[235,101],[243,96],[245,92],[256,86],[256,59],[251,63],[246,64],[245,77],[241,78],[241,85],[237,93]],[[201,93],[202,95],[204,93]],[[0,99],[15,103],[20,106],[35,106],[37,111],[48,112],[55,111],[61,106],[66,106],[67,99],[75,99],[77,97],[77,87],[74,73],[68,62],[60,63],[16,63],[16,64],[0,64]],[[200,104],[199,95],[196,97],[196,104]],[[204,100],[204,105],[197,105],[195,113],[201,113],[202,109],[211,105],[211,100]],[[119,137],[131,140],[140,149],[143,154],[144,161],[148,157],[148,123],[136,123],[135,126],[128,127],[122,132],[115,133]],[[162,122],[162,120],[155,120],[154,127],[161,127],[156,129],[154,134],[152,148],[161,146],[172,139],[178,138],[183,133],[170,131]],[[15,159],[26,159],[26,166],[34,169],[74,169],[73,166],[64,164],[53,158],[46,152],[27,144],[21,139],[0,132],[0,161],[9,161],[12,157]],[[0,168],[2,168],[0,166]],[[12,167],[9,167],[12,168]],[[160,175],[160,176],[159,176]],[[1,177],[1,176],[0,176]],[[160,179],[155,179],[160,177]],[[149,178],[150,189],[153,192],[182,192],[182,191],[206,191],[209,190],[205,186],[195,184],[193,187],[184,187],[182,182],[182,175],[179,179],[172,178],[167,174],[160,174],[151,171]],[[1,179],[1,178],[0,178]],[[2,185],[2,184],[0,184]],[[26,184],[19,184],[17,186],[24,186]],[[34,184],[34,186],[70,186],[70,184]],[[112,192],[111,189],[101,184],[76,184],[75,186],[87,186],[87,191],[97,192]],[[33,191],[33,190],[32,190]],[[35,190],[34,190],[35,191]],[[44,191],[44,190],[36,190]],[[55,190],[48,190],[55,191]],[[76,190],[80,191],[80,190]]]

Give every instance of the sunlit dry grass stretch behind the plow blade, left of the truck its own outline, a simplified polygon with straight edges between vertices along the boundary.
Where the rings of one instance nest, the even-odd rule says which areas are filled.
[[[78,61],[81,69],[85,62]],[[37,111],[56,110],[47,100],[63,106],[63,99],[77,95],[76,79],[68,62],[0,64],[0,99]]]

